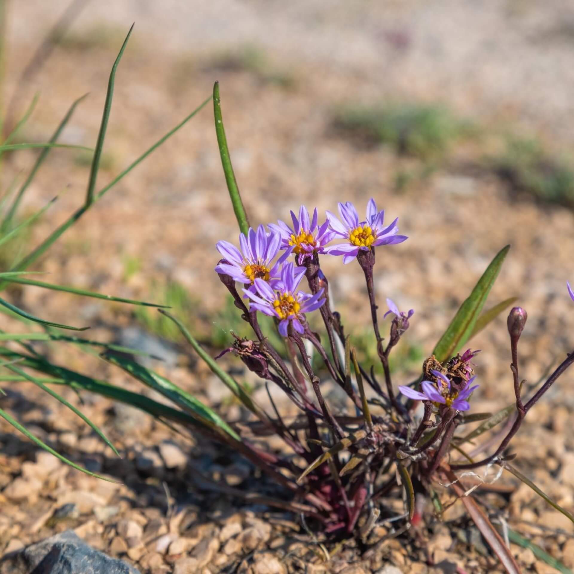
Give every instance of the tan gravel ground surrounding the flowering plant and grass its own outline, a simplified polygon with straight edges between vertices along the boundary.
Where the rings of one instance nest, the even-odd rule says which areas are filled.
[[[10,6],[6,94],[13,93],[22,62],[66,5],[30,0]],[[328,6],[295,1],[288,7],[259,0],[197,5],[171,0],[161,9],[141,0],[88,3],[69,41],[57,46],[26,87],[26,97],[40,90],[41,99],[24,139],[48,139],[72,100],[90,92],[63,141],[93,145],[118,37],[121,42],[118,29],[133,20],[137,28],[118,70],[100,186],[202,102],[219,79],[228,141],[252,223],[285,219],[301,203],[332,210],[336,201],[351,200],[363,208],[374,196],[409,235],[409,241],[378,256],[378,296],[416,309],[409,337],[425,352],[490,259],[511,243],[491,301],[516,295],[528,309],[522,376],[538,380],[571,349],[574,308],[565,281],[574,280],[572,211],[528,199],[510,201],[505,184],[493,174],[461,168],[489,148],[488,138],[479,149],[473,142],[457,145],[444,165],[398,193],[393,191],[397,171],[409,168],[412,158],[356,145],[333,131],[332,118],[349,103],[440,102],[485,130],[536,134],[551,150],[568,152],[574,146],[572,6],[510,0]],[[90,41],[94,31],[106,40]],[[246,44],[267,57],[267,71],[222,65],[222,55],[229,59]],[[27,102],[23,94],[21,111]],[[33,159],[26,152],[7,156],[3,184]],[[84,164],[75,152],[52,152],[29,189],[25,209],[35,210],[55,195],[60,199],[34,227],[31,244],[82,202]],[[51,273],[49,281],[135,298],[149,298],[153,280],[173,278],[201,301],[197,315],[205,324],[223,296],[211,271],[217,259],[213,246],[221,238],[235,241],[236,225],[207,107],[69,230],[38,269]],[[127,280],[126,258],[139,262]],[[338,306],[360,329],[369,311],[358,267],[343,268],[332,259],[325,261],[325,270],[333,278]],[[118,305],[33,288],[13,296],[42,316],[94,325],[91,338],[111,340],[118,328],[133,325]],[[497,409],[512,396],[504,321],[481,333],[475,346],[483,350],[476,409]],[[130,385],[73,350],[49,352],[72,368]],[[224,401],[222,386],[191,356],[176,354],[164,369],[211,404],[223,401],[231,420],[239,418],[238,407]],[[537,406],[536,425],[526,426],[514,445],[517,465],[572,511],[574,444],[568,430],[574,402],[564,392],[570,379],[564,377]],[[109,401],[84,397],[84,412],[123,453],[118,461],[44,395],[24,385],[6,390],[3,408],[69,456],[122,484],[61,467],[0,425],[0,549],[5,553],[74,528],[96,548],[132,561],[142,572],[264,574],[304,572],[305,565],[307,572],[345,574],[452,571],[444,563],[466,572],[497,569],[479,545],[468,546],[473,535],[460,520],[460,503],[452,507],[446,527],[432,525],[428,532],[390,541],[370,559],[349,544],[326,560],[297,517],[206,490],[205,476],[243,490],[262,480],[233,453],[174,436]],[[77,401],[73,394],[68,398]],[[194,474],[198,469],[203,478]],[[572,523],[510,475],[498,485],[507,491],[483,496],[503,509],[511,528],[574,566]],[[375,534],[385,532],[381,526]],[[421,550],[425,544],[428,551]],[[552,571],[532,550],[512,548],[525,572]]]

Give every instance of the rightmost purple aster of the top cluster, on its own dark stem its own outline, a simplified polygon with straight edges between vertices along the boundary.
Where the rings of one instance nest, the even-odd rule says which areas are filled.
[[[350,263],[359,250],[368,251],[371,247],[394,245],[407,239],[406,235],[397,235],[398,218],[389,226],[383,227],[385,211],[377,211],[377,204],[372,197],[367,204],[366,221],[359,222],[357,210],[350,201],[339,203],[339,215],[343,223],[327,211],[331,229],[337,237],[346,239],[347,243],[325,247],[323,252],[330,255],[343,255],[343,263]]]

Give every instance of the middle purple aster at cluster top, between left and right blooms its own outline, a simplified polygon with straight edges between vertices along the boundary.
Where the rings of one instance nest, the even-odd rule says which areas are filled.
[[[313,253],[323,253],[323,247],[335,236],[335,232],[329,229],[328,219],[321,225],[317,224],[317,208],[309,220],[307,207],[301,205],[299,217],[291,212],[291,220],[293,228],[282,221],[269,223],[269,228],[281,236],[281,249],[292,247],[298,265],[303,265],[305,259],[311,259]]]

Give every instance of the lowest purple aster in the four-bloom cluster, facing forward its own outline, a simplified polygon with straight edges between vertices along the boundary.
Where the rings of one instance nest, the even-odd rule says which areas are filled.
[[[296,267],[293,263],[285,263],[281,269],[281,278],[273,288],[262,279],[255,278],[254,293],[249,289],[243,289],[250,299],[251,307],[280,319],[279,332],[286,337],[289,323],[298,333],[305,332],[305,315],[319,309],[325,302],[321,298],[324,289],[320,289],[315,295],[298,291],[297,288],[305,275],[304,267]]]

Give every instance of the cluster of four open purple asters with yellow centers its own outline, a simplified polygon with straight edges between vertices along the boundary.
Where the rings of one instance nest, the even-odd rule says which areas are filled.
[[[349,263],[359,250],[369,251],[407,239],[405,235],[397,235],[398,219],[383,226],[385,212],[377,211],[374,199],[367,204],[363,221],[359,221],[355,206],[349,201],[339,203],[339,214],[344,223],[330,211],[324,222],[319,223],[317,209],[309,217],[309,211],[301,205],[298,216],[291,212],[293,227],[280,220],[269,223],[269,231],[262,225],[257,231],[250,228],[247,236],[239,235],[240,249],[228,241],[219,241],[216,249],[223,259],[215,270],[246,285],[243,292],[251,308],[276,317],[281,335],[287,336],[290,323],[296,332],[304,333],[305,313],[319,309],[326,300],[324,288],[313,293],[298,289],[308,266],[318,262],[319,254],[342,255],[343,263]],[[342,241],[328,245],[336,239]],[[284,253],[277,257],[281,250]],[[295,264],[287,261],[292,254]],[[409,312],[409,317],[412,313]]]

